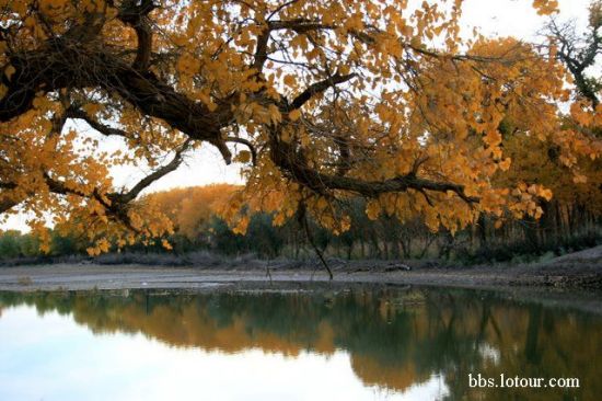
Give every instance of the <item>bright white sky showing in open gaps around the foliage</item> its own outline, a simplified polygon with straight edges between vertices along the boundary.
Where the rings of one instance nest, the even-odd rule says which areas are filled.
[[[559,21],[576,20],[577,26],[584,27],[589,3],[590,0],[559,0],[557,18]],[[537,31],[546,19],[537,15],[531,0],[464,0],[461,24],[466,33],[476,26],[486,36],[514,36],[526,42],[541,42]],[[83,124],[77,128],[88,129]],[[242,184],[240,169],[241,165],[235,163],[225,165],[217,149],[205,145],[195,154],[189,154],[178,170],[154,182],[147,192],[223,182]],[[117,186],[128,185],[148,173],[141,169],[121,168],[114,171],[114,180]],[[0,225],[0,229],[28,231],[26,219],[23,214],[11,216]]]

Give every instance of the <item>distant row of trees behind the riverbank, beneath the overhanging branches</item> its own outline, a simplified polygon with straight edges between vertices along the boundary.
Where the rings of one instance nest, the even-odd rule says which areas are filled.
[[[175,253],[210,251],[222,255],[255,254],[261,259],[314,257],[313,247],[296,218],[276,227],[273,216],[257,213],[250,219],[245,234],[234,233],[219,217],[219,210],[238,191],[233,185],[209,185],[177,188],[155,193],[149,199],[174,221],[174,234],[165,238],[171,250],[162,241],[135,243],[120,251],[130,253]],[[339,259],[442,259],[462,263],[493,261],[528,261],[542,254],[563,254],[602,243],[600,205],[572,203],[560,199],[542,203],[541,219],[509,219],[499,224],[498,218],[483,215],[465,230],[452,234],[449,231],[430,231],[417,217],[401,222],[381,215],[371,220],[366,215],[362,199],[351,199],[346,205],[351,228],[338,236],[321,228],[310,219],[309,228],[315,247],[326,256]],[[65,227],[50,231],[50,250],[39,251],[39,239],[19,231],[0,234],[0,257],[61,257],[86,255],[91,243],[86,238],[69,233]],[[115,244],[112,251],[117,251]]]

